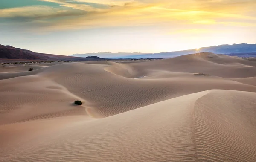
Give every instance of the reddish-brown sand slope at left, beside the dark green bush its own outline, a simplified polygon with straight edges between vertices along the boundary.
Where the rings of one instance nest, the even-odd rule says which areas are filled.
[[[65,116],[77,111],[80,114],[82,111],[72,104],[81,98],[37,75],[1,80],[0,84],[0,124]]]

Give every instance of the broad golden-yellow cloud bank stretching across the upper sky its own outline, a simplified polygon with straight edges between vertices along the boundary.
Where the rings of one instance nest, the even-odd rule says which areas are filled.
[[[255,26],[255,0],[40,0],[59,4],[0,10],[41,30],[174,24]],[[56,19],[57,18],[57,19]],[[54,21],[52,19],[55,19]],[[197,28],[196,28],[197,29]]]

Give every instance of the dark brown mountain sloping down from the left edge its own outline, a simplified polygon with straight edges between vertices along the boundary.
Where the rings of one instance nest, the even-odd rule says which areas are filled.
[[[51,61],[83,61],[83,60],[103,60],[97,56],[89,58],[52,55],[45,53],[36,53],[26,49],[15,48],[12,46],[0,45],[0,58],[2,59],[20,59],[20,60],[51,60]]]

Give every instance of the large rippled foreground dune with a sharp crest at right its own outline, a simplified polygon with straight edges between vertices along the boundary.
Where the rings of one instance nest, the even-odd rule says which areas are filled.
[[[253,162],[254,97],[250,92],[209,90],[103,119],[78,116],[63,123],[56,118],[4,125],[2,136],[11,134],[12,143],[2,142],[0,161]],[[46,128],[52,123],[54,129]],[[24,134],[18,143],[15,134],[20,131]]]

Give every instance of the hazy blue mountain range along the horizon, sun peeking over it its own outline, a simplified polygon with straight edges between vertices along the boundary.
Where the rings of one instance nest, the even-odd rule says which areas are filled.
[[[220,45],[220,46],[210,46],[202,47],[199,50],[189,49],[183,51],[174,51],[174,52],[161,52],[161,53],[87,53],[87,54],[74,54],[70,56],[84,57],[88,55],[96,55],[102,58],[172,58],[180,55],[187,55],[197,52],[212,52],[216,54],[226,54],[226,55],[236,55],[239,57],[255,57],[254,54],[249,54],[256,52],[256,44],[233,44],[233,45]]]

